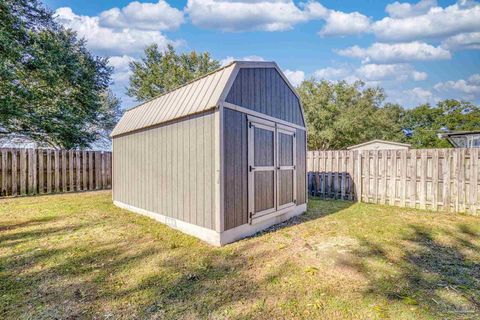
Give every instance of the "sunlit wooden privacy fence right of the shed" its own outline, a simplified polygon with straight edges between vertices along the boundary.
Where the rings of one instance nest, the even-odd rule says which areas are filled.
[[[480,210],[479,149],[309,151],[308,191],[411,208]]]

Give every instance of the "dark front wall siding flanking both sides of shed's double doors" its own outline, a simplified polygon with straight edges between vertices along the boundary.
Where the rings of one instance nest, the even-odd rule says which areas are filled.
[[[225,230],[248,223],[247,115],[224,109]],[[297,129],[297,205],[306,202],[306,134]]]

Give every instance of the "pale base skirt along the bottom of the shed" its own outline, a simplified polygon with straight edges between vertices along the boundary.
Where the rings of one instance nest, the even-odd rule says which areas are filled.
[[[231,243],[231,242],[240,240],[242,238],[251,236],[259,231],[262,231],[263,229],[266,229],[275,224],[284,222],[294,216],[297,216],[307,211],[307,205],[302,204],[299,206],[292,207],[291,210],[285,213],[282,213],[277,216],[272,216],[269,219],[265,219],[253,225],[244,224],[224,232],[217,232],[215,230],[197,226],[195,224],[191,224],[182,220],[167,217],[159,213],[137,208],[120,201],[113,201],[113,204],[119,208],[126,209],[135,213],[139,213],[141,215],[157,220],[158,222],[166,224],[167,226],[173,229],[182,231],[183,233],[199,238],[200,240],[203,240],[214,246],[222,246],[227,243]]]

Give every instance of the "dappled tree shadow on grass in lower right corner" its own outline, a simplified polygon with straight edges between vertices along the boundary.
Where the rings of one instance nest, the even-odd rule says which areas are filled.
[[[369,283],[365,296],[425,308],[441,318],[478,319],[480,234],[467,225],[456,227],[452,232],[409,225],[408,236],[394,245],[403,250],[400,258],[387,254],[385,244],[363,239],[353,259],[341,264],[365,276]],[[438,233],[448,237],[447,242],[439,241]]]

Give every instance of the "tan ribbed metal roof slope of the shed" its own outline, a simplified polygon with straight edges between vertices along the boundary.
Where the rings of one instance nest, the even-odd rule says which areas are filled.
[[[111,136],[215,108],[237,62],[127,110]]]

